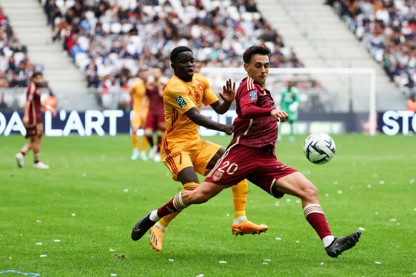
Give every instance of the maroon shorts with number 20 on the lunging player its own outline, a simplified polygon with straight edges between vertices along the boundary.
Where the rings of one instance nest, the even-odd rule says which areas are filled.
[[[270,148],[237,144],[227,148],[205,181],[217,185],[236,185],[248,179],[275,198],[281,198],[284,193],[272,189],[273,183],[296,171],[277,161]]]

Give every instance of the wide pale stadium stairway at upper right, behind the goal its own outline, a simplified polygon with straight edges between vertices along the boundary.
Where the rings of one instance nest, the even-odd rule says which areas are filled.
[[[403,109],[406,97],[389,81],[382,66],[366,52],[334,9],[323,2],[324,0],[257,0],[257,7],[279,31],[285,44],[294,47],[305,67],[374,68],[377,109]],[[368,74],[351,78],[334,74],[319,74],[315,77],[329,91],[336,92],[339,101],[348,101],[347,95],[351,89],[355,99],[354,109],[368,110],[369,96],[363,95],[369,89]]]

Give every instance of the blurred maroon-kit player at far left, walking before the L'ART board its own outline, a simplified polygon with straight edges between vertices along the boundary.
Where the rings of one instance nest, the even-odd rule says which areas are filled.
[[[25,155],[30,149],[33,150],[33,156],[35,162],[33,163],[34,168],[48,169],[45,163],[40,161],[40,142],[43,135],[43,124],[40,117],[40,110],[42,104],[40,102],[40,90],[39,88],[42,85],[42,73],[34,72],[32,75],[32,82],[27,87],[26,92],[26,104],[25,104],[25,113],[23,114],[23,124],[26,127],[26,136],[29,138],[30,142],[26,143],[23,146],[22,150],[16,154],[17,166],[22,168],[25,164]],[[56,116],[56,110],[51,106],[46,106],[46,109],[52,112],[53,116]]]

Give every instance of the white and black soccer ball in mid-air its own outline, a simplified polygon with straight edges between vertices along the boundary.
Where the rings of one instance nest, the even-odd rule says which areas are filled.
[[[328,134],[313,133],[305,139],[303,153],[311,163],[327,163],[334,157],[335,142]]]

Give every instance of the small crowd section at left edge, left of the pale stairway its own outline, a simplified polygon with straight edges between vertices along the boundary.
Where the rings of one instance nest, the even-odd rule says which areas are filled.
[[[27,87],[33,72],[41,69],[27,58],[25,45],[17,39],[0,7],[0,88]]]

